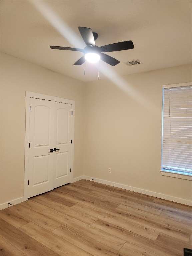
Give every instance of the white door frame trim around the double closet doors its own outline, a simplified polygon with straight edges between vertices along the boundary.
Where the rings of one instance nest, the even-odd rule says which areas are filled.
[[[61,102],[72,105],[72,141],[74,142],[74,117],[75,117],[75,101],[63,99],[59,97],[54,97],[50,95],[40,94],[36,92],[25,91],[26,97],[26,115],[25,115],[25,171],[24,171],[24,200],[28,199],[28,173],[29,173],[29,107],[30,107],[30,98],[36,98],[41,100],[50,100],[55,102]],[[71,145],[71,173],[70,181],[73,178],[73,159],[74,159],[74,143]]]

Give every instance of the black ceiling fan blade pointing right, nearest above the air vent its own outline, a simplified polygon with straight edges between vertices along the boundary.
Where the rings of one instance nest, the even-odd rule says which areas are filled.
[[[103,50],[103,52],[115,52],[133,49],[134,45],[133,42],[130,40],[114,44],[103,45],[100,48]]]

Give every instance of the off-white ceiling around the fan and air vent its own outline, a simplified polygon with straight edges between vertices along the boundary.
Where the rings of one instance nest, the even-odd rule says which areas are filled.
[[[107,53],[112,67],[100,61],[100,79],[191,63],[191,1],[70,0],[0,1],[4,53],[81,81],[97,80],[95,65],[73,64],[83,55],[50,45],[84,48],[78,26],[98,33],[97,46],[132,40],[134,49]],[[143,64],[127,66],[139,59]]]

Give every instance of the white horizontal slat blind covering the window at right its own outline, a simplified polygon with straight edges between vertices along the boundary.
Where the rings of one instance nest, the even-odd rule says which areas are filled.
[[[163,88],[162,168],[192,173],[192,86]]]

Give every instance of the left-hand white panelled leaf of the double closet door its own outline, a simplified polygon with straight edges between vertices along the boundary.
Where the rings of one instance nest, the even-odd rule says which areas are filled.
[[[54,104],[30,99],[28,198],[53,189]]]

